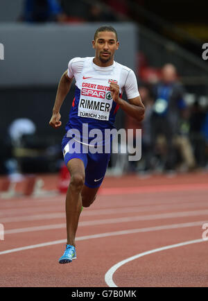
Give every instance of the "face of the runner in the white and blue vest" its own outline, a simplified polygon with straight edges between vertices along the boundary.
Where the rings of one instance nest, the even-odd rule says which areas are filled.
[[[101,31],[96,40],[92,41],[96,50],[96,62],[104,65],[112,65],[114,53],[119,49],[119,42],[116,41],[116,34],[112,31]]]

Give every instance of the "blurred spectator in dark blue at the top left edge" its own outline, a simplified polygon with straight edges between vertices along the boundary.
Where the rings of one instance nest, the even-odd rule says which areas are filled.
[[[64,18],[57,0],[25,0],[21,21],[61,22]]]

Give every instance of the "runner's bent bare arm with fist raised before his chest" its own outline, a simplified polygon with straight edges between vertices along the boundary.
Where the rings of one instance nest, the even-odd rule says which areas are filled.
[[[110,91],[113,100],[119,104],[119,106],[124,112],[126,112],[131,117],[137,119],[138,121],[142,121],[144,119],[145,107],[141,101],[140,96],[128,99],[128,103],[127,101],[124,101],[122,98],[119,97],[119,85],[111,83]]]

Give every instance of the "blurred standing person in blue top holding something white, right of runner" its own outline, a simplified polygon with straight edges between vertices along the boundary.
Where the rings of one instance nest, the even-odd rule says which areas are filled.
[[[164,137],[166,150],[162,164],[164,169],[175,169],[176,153],[173,145],[173,137],[177,134],[180,114],[184,107],[184,89],[177,81],[177,72],[173,65],[166,64],[162,68],[162,79],[153,85],[154,105],[150,120],[151,143],[153,150],[157,149],[158,137]]]

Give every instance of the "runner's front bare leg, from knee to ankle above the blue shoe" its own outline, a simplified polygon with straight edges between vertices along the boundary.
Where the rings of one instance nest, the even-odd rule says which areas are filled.
[[[67,163],[67,169],[71,175],[66,197],[67,244],[75,246],[75,235],[82,208],[81,191],[85,182],[85,166],[82,160],[73,158]]]

